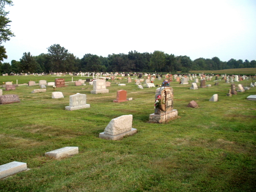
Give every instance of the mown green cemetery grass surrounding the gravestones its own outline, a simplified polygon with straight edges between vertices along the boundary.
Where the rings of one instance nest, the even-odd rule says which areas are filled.
[[[55,78],[1,76],[0,82]],[[191,83],[170,82],[179,118],[154,124],[148,118],[154,113],[156,88],[140,90],[134,79],[124,79],[110,81],[108,94],[90,94],[88,83],[74,86],[71,76],[60,78],[67,86],[56,88],[64,95],[59,99],[51,98],[52,87],[36,94],[31,91],[38,85],[8,92],[1,88],[3,95],[18,94],[20,103],[0,105],[0,165],[26,162],[28,170],[0,179],[0,192],[255,191],[256,101],[246,97],[256,88],[228,97],[230,84],[224,80],[218,86],[207,81],[212,86],[198,90],[189,89]],[[235,84],[249,86],[250,81]],[[133,100],[114,103],[121,89]],[[76,93],[87,95],[90,108],[65,110]],[[213,94],[218,102],[209,102]],[[199,108],[186,107],[192,100]],[[128,114],[137,134],[119,141],[99,138],[111,119]],[[66,146],[78,146],[79,154],[60,160],[44,155]]]

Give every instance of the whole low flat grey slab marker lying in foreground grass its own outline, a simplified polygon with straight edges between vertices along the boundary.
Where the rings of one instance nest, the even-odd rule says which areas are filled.
[[[64,147],[64,148],[60,148],[60,149],[56,149],[56,150],[44,153],[45,156],[53,157],[56,159],[72,156],[75,154],[78,154],[78,147]]]

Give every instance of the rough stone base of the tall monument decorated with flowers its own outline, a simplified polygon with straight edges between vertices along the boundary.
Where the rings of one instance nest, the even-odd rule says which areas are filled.
[[[149,122],[152,123],[164,123],[173,120],[178,117],[178,111],[176,109],[168,112],[162,112],[161,114],[152,113],[149,115]]]

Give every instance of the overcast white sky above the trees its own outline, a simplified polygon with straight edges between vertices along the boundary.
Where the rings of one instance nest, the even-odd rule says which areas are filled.
[[[60,44],[75,56],[160,50],[256,60],[256,0],[12,0],[8,59]]]

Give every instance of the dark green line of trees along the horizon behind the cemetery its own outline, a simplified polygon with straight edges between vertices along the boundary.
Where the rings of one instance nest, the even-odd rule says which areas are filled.
[[[218,57],[198,58],[174,56],[162,51],[128,54],[110,54],[108,57],[85,54],[81,59],[67,49],[54,44],[47,54],[32,56],[24,52],[20,61],[0,64],[0,73],[50,73],[50,72],[189,72],[190,70],[222,70],[230,68],[256,68],[256,61],[230,59],[222,62]]]

